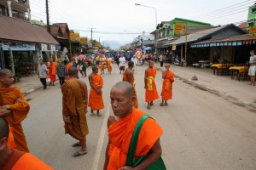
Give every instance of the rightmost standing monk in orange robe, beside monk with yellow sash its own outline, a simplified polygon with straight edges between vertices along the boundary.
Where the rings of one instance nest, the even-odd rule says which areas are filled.
[[[166,71],[162,72],[163,86],[162,86],[162,102],[160,106],[168,105],[167,100],[172,99],[172,82],[174,82],[174,73],[170,71],[170,65],[165,65]]]

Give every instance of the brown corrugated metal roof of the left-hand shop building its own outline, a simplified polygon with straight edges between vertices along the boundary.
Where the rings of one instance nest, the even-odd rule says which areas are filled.
[[[43,27],[0,15],[0,39],[59,44]]]

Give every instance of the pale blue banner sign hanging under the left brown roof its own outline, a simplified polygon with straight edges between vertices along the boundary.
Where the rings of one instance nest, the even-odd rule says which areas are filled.
[[[4,43],[2,44],[3,51],[35,51],[35,44],[26,43]]]

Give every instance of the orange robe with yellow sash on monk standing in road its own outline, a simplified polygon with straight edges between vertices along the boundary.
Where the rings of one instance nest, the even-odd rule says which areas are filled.
[[[146,78],[147,78],[147,87],[146,87],[146,93],[145,93],[145,100],[146,102],[153,101],[155,99],[159,99],[157,89],[154,82],[154,77],[156,75],[156,68],[152,68],[150,71],[148,71]],[[149,84],[152,83],[152,89],[150,89]]]

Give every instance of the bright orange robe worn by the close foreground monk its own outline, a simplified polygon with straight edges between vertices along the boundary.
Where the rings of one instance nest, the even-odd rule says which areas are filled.
[[[108,150],[108,170],[119,169],[125,166],[131,135],[137,122],[143,116],[143,111],[133,108],[131,114],[119,119],[108,127],[108,137],[110,140]],[[163,130],[153,119],[148,118],[138,136],[135,156],[145,156],[154,143],[160,138]]]

